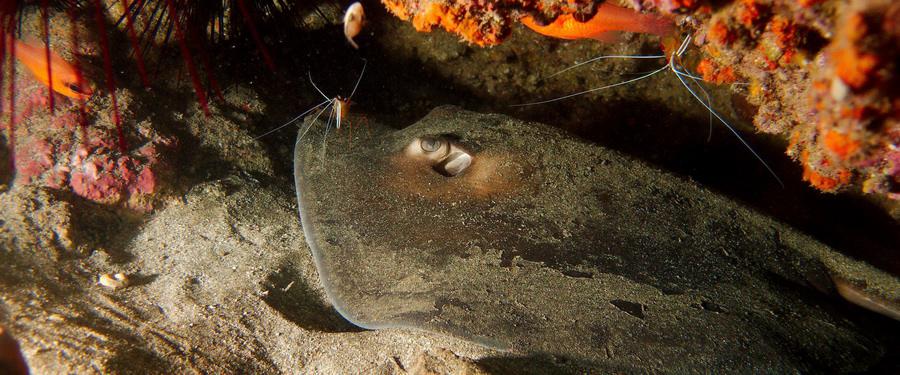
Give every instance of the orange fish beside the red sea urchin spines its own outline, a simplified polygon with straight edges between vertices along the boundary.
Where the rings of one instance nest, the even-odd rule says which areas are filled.
[[[16,59],[28,68],[34,78],[44,85],[50,86],[47,76],[47,55],[44,47],[37,47],[20,40],[15,41]],[[53,78],[53,91],[77,100],[86,100],[93,93],[82,80],[79,85],[79,72],[68,61],[50,51],[50,74]]]

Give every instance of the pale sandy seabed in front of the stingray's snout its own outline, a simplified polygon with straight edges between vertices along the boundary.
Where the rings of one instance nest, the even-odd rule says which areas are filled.
[[[248,178],[201,184],[122,233],[122,247],[95,249],[75,245],[99,231],[73,224],[71,197],[0,193],[0,325],[35,374],[392,373],[429,348],[489,353],[421,332],[362,331],[337,316],[293,199]],[[121,224],[107,224],[116,236]],[[116,272],[131,285],[97,285]]]

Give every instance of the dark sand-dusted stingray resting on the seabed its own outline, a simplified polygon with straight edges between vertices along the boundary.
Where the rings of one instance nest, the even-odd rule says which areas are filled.
[[[832,280],[896,300],[896,278],[694,182],[454,107],[369,128],[294,160],[321,282],[360,327],[610,370],[858,371],[895,348]]]

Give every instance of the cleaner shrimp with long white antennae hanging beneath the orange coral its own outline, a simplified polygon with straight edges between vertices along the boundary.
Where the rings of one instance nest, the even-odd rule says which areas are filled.
[[[735,136],[735,138],[737,138],[737,140],[740,141],[740,143],[742,145],[744,145],[744,147],[747,148],[747,150],[750,151],[751,154],[753,154],[753,157],[756,158],[756,160],[758,160],[760,163],[762,163],[763,167],[766,168],[766,170],[769,172],[769,174],[771,174],[772,177],[775,178],[775,181],[777,181],[778,184],[781,185],[781,187],[784,187],[784,182],[781,180],[781,178],[778,177],[778,174],[775,173],[775,170],[773,170],[772,167],[769,166],[768,163],[766,163],[765,159],[763,159],[762,156],[760,156],[759,153],[757,153],[756,150],[754,150],[753,147],[750,146],[750,143],[748,143],[744,139],[744,137],[741,137],[741,135],[737,131],[737,129],[735,129],[731,124],[729,124],[728,121],[725,121],[725,119],[722,117],[722,115],[720,115],[715,109],[712,108],[712,102],[711,102],[709,93],[706,91],[706,89],[703,88],[703,85],[701,84],[701,82],[704,81],[704,79],[697,75],[688,73],[688,70],[684,67],[684,64],[682,63],[682,56],[684,55],[685,51],[687,51],[688,46],[690,45],[691,39],[692,39],[692,36],[690,36],[690,35],[687,36],[686,38],[684,38],[684,40],[681,42],[681,45],[678,46],[678,48],[671,54],[671,56],[666,56],[665,54],[661,54],[661,55],[603,55],[603,56],[597,56],[597,57],[594,57],[587,61],[583,61],[578,64],[572,65],[568,68],[565,68],[563,70],[560,70],[560,71],[553,73],[547,77],[547,78],[554,77],[559,74],[565,73],[569,70],[578,68],[580,66],[590,64],[592,62],[596,62],[596,61],[600,61],[600,60],[606,60],[606,59],[660,59],[660,58],[667,59],[666,65],[663,65],[662,67],[660,67],[656,70],[650,71],[649,73],[644,73],[636,78],[632,78],[632,79],[628,79],[625,81],[616,82],[616,83],[612,83],[612,84],[604,85],[604,86],[600,86],[600,87],[594,87],[591,89],[587,89],[587,90],[579,91],[576,93],[556,97],[553,99],[541,100],[541,101],[530,102],[530,103],[513,104],[511,106],[512,107],[524,107],[524,106],[547,104],[547,103],[557,102],[560,100],[566,100],[566,99],[585,95],[585,94],[595,92],[595,91],[611,89],[613,87],[618,87],[618,86],[624,86],[624,85],[627,85],[630,83],[640,81],[645,78],[652,77],[660,72],[668,70],[668,71],[671,71],[673,74],[675,74],[675,77],[678,78],[678,81],[681,82],[681,85],[684,86],[685,89],[687,89],[687,91],[691,94],[691,96],[693,96],[694,99],[697,100],[697,102],[699,102],[704,108],[706,108],[707,111],[709,111],[710,127],[712,127],[712,122],[713,122],[712,118],[715,117],[716,119],[718,119],[719,122],[721,122],[722,125],[724,125],[725,128],[727,128],[728,131],[730,131]],[[700,98],[700,95],[697,94],[697,91],[692,88],[690,83],[693,83],[694,85],[696,85],[697,88],[700,89],[700,92],[706,98],[706,101],[704,101],[703,99]]]

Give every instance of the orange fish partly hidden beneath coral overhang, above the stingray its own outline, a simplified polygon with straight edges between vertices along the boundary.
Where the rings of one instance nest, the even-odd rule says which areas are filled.
[[[545,26],[539,25],[531,16],[522,18],[522,24],[539,34],[555,38],[589,38],[602,41],[614,40],[616,31],[659,36],[668,35],[673,31],[672,22],[666,18],[638,13],[608,2],[600,4],[594,17],[586,22],[579,22],[571,14],[563,14]]]

